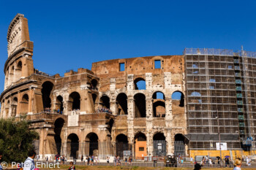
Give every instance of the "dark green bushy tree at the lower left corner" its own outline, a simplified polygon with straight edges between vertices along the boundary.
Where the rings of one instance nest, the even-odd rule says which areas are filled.
[[[20,121],[0,119],[0,153],[3,161],[24,162],[29,150],[34,149],[33,141],[38,139],[38,134],[30,130],[29,125],[25,117]]]

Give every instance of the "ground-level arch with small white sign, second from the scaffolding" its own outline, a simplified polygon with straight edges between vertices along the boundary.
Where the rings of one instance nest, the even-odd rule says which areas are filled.
[[[153,136],[154,144],[154,156],[165,156],[166,155],[166,141],[165,135],[162,133],[157,133]]]

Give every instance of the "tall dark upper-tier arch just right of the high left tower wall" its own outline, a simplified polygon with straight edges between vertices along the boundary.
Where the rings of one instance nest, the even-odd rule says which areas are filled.
[[[53,90],[53,83],[52,82],[44,82],[42,84],[42,104],[45,110],[50,111],[51,107],[51,91]]]

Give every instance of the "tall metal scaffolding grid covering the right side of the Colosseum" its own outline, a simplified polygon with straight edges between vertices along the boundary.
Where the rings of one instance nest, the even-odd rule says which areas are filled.
[[[233,136],[230,150],[254,150],[248,141],[256,132],[256,53],[186,48],[184,62],[189,148],[212,150],[219,139],[204,136],[217,135],[219,126]]]

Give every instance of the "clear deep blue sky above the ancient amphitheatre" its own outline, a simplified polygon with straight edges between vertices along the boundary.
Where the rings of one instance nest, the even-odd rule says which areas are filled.
[[[0,1],[0,92],[7,29],[29,20],[34,67],[64,74],[114,58],[181,55],[184,47],[256,51],[256,1]]]

